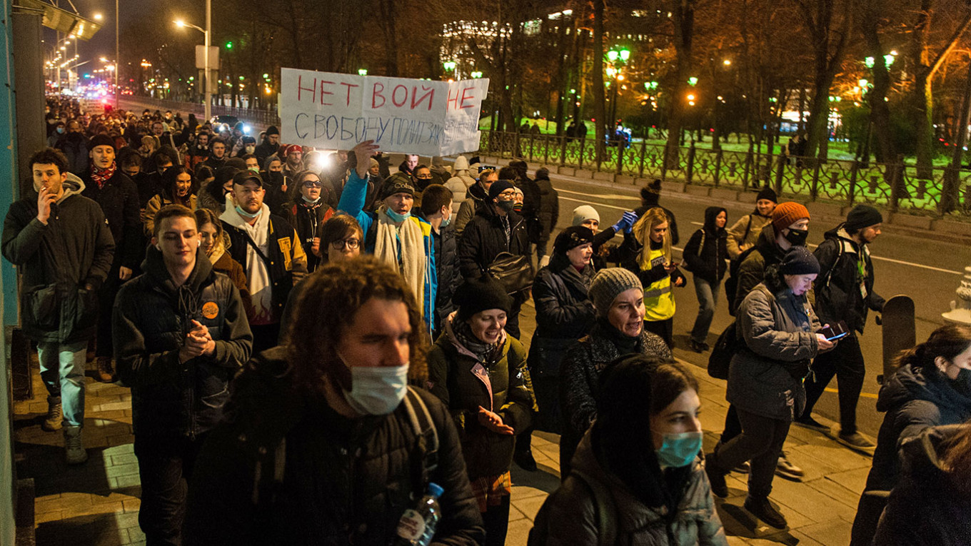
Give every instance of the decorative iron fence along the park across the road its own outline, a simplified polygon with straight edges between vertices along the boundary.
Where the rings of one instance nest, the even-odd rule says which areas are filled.
[[[636,178],[683,180],[686,184],[748,190],[769,185],[780,195],[811,201],[870,203],[892,211],[971,217],[971,171],[933,167],[925,176],[903,163],[785,157],[754,152],[681,147],[664,164],[664,146],[612,141],[597,159],[595,142],[546,134],[482,131],[479,153],[520,157],[552,165]],[[944,188],[956,188],[950,207]]]

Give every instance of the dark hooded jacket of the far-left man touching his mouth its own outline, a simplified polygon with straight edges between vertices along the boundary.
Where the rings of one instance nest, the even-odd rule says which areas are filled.
[[[73,177],[74,175],[69,175]],[[3,256],[20,273],[20,325],[34,341],[74,343],[94,337],[98,294],[115,253],[97,203],[80,195],[78,178],[37,220],[37,192],[15,201],[3,225]]]

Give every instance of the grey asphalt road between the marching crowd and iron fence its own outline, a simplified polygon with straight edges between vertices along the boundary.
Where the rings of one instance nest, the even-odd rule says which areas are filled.
[[[617,222],[623,211],[632,210],[640,204],[639,188],[619,186],[599,181],[576,179],[552,175],[553,187],[559,192],[560,214],[557,227],[570,225],[573,220],[573,209],[580,205],[591,205],[600,214],[601,226],[607,227]],[[752,197],[754,203],[754,194]],[[729,225],[739,217],[752,212],[753,204],[743,202],[717,203],[711,198],[699,198],[686,194],[663,194],[661,204],[670,209],[678,220],[681,235],[677,252],[686,244],[691,234],[701,226],[705,207],[720,204],[728,210]],[[823,232],[836,224],[835,219],[830,222],[821,220],[810,222],[809,243],[811,248],[822,241]],[[558,231],[558,229],[557,229]],[[618,238],[619,241],[619,238]],[[552,243],[551,243],[552,251]],[[885,231],[870,247],[874,257],[875,284],[874,290],[889,298],[894,294],[907,294],[914,298],[916,306],[917,339],[923,341],[937,326],[944,324],[941,313],[950,310],[950,302],[954,299],[964,267],[971,264],[971,250],[969,247],[954,243],[934,240],[933,235],[915,237]],[[690,273],[686,273],[690,276]],[[693,364],[704,367],[708,361],[708,353],[699,355],[687,349],[687,332],[694,324],[698,311],[697,299],[694,295],[693,284],[687,283],[686,288],[676,290],[677,313],[674,319],[675,354]],[[709,345],[714,345],[718,334],[731,323],[724,305],[724,292],[720,292],[720,301],[708,336]],[[531,311],[528,310],[528,311]],[[523,330],[531,334],[532,324],[529,321],[531,313],[524,310]],[[883,328],[876,324],[875,314],[870,313],[864,334],[860,336],[863,357],[866,360],[867,375],[863,385],[857,408],[857,426],[862,432],[876,436],[883,420],[883,414],[876,411],[876,398],[879,391],[877,375],[883,372]],[[523,335],[523,341],[528,341]],[[699,370],[700,373],[705,373]],[[834,379],[829,390],[820,398],[816,412],[823,417],[839,421],[837,406],[837,382]]]

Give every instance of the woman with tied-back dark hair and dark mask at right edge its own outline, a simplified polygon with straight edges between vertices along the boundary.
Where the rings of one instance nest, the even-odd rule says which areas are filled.
[[[898,456],[907,440],[929,427],[971,419],[971,327],[948,324],[927,341],[902,352],[897,371],[884,381],[877,411],[887,412],[877,436],[873,466],[866,478],[853,525],[853,546],[869,545],[887,492],[898,483]]]

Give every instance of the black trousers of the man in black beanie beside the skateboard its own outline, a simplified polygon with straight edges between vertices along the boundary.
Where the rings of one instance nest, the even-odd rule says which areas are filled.
[[[856,402],[863,390],[866,365],[859,348],[855,333],[844,337],[832,350],[820,353],[812,366],[813,373],[806,379],[806,409],[803,417],[809,417],[813,406],[820,399],[826,386],[836,376],[839,382],[840,433],[853,434],[856,431]]]

